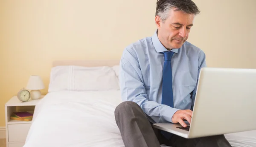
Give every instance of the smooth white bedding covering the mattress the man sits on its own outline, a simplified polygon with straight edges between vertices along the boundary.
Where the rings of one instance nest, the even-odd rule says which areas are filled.
[[[23,147],[124,147],[114,118],[120,91],[58,91],[35,107]],[[256,147],[256,131],[225,135],[233,147]]]

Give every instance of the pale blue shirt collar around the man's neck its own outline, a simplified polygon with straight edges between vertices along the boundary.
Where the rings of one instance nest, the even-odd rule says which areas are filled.
[[[152,36],[152,42],[153,42],[154,48],[157,51],[157,53],[164,52],[164,51],[169,51],[160,42],[160,40],[157,36],[157,31],[155,31],[154,35]],[[178,53],[179,49],[178,48],[173,48],[171,51],[175,52],[175,53]]]

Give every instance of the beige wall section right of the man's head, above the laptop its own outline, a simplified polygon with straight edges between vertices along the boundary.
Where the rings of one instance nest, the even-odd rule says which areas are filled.
[[[212,67],[256,68],[256,0],[194,0],[201,10],[189,41]]]

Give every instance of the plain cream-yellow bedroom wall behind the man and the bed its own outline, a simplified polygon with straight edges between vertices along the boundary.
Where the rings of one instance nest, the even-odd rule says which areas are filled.
[[[194,0],[201,9],[189,41],[209,67],[256,68],[256,0]],[[119,59],[151,36],[156,0],[0,0],[0,126],[4,104],[29,76],[47,93],[52,61]]]

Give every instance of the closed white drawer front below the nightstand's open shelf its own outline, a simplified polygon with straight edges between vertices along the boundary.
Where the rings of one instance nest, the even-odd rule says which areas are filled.
[[[31,123],[28,124],[8,124],[9,142],[26,141]]]

